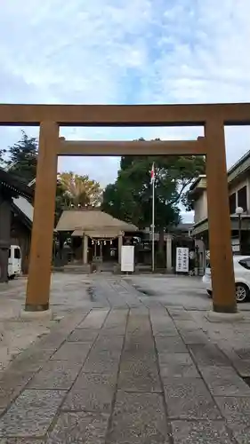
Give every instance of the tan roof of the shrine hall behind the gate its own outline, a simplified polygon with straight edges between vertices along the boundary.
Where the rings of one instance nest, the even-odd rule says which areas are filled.
[[[74,235],[83,233],[90,235],[110,234],[110,237],[121,231],[134,232],[138,228],[117,218],[113,218],[101,210],[64,210],[56,226],[57,231],[72,231]]]

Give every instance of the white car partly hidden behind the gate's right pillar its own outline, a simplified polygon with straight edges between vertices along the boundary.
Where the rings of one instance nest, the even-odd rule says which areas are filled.
[[[237,302],[246,302],[250,298],[250,256],[233,257],[236,300]],[[206,267],[205,275],[202,281],[206,287],[209,296],[212,296],[212,281],[210,264]]]

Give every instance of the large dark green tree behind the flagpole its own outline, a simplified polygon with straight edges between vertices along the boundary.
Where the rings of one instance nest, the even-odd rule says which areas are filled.
[[[188,205],[187,189],[204,172],[197,156],[123,156],[114,184],[106,187],[102,210],[139,228],[152,223],[150,170],[155,163],[155,217],[159,231],[181,221],[180,203]]]

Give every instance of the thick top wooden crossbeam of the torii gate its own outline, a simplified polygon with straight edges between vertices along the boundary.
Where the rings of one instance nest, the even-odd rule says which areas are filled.
[[[15,105],[0,104],[0,125],[197,126],[210,118],[250,124],[250,103],[206,105]]]

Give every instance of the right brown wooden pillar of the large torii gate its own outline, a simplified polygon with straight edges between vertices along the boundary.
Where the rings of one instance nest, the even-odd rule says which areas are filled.
[[[229,188],[223,122],[206,123],[206,189],[214,312],[236,313]]]

